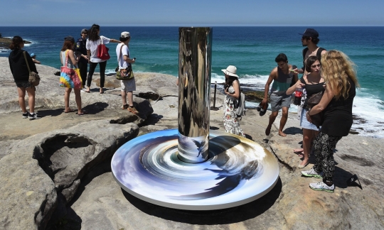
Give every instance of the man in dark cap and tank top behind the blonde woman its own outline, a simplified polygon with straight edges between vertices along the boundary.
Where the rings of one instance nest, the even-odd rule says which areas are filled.
[[[308,72],[305,71],[305,60],[309,56],[317,56],[319,58],[319,61],[321,60],[321,55],[326,53],[326,49],[321,48],[317,46],[317,43],[319,43],[319,33],[314,28],[306,28],[304,33],[299,33],[302,35],[302,45],[306,46],[303,50],[303,67],[299,70],[297,70],[298,73],[304,73],[304,75],[308,74]]]

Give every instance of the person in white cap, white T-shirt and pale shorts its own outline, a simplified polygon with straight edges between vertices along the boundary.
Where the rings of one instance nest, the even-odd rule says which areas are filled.
[[[120,35],[119,43],[116,47],[117,62],[119,62],[119,70],[126,69],[129,65],[135,62],[134,59],[129,57],[129,41],[131,40],[131,34],[129,32],[122,32]],[[137,114],[137,109],[133,104],[133,92],[136,90],[136,82],[134,77],[129,80],[121,80],[122,86],[122,109],[128,109],[133,114]],[[127,96],[128,103],[127,104]]]

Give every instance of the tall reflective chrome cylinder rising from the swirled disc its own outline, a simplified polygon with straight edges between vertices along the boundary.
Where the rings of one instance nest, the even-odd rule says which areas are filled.
[[[212,28],[178,28],[178,158],[208,159]]]

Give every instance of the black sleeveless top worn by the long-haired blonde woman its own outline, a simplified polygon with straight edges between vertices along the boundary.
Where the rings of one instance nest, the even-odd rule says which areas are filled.
[[[338,100],[333,98],[324,109],[324,123],[321,131],[329,136],[348,136],[353,123],[352,106],[353,98],[356,96],[355,83],[349,79],[351,88],[348,98],[340,97]]]

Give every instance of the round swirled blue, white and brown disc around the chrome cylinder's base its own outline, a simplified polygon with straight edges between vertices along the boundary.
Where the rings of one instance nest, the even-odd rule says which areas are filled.
[[[178,131],[147,133],[120,147],[112,175],[131,195],[152,204],[188,210],[225,209],[251,202],[272,190],[277,159],[254,141],[210,130],[209,158],[178,159]]]

